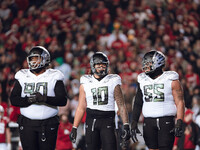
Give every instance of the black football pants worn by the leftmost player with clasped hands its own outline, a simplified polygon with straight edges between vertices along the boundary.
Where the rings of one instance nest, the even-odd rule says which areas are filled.
[[[35,124],[31,125],[33,123],[32,120],[25,120],[26,123],[19,124],[19,134],[23,150],[55,150],[59,124],[52,123],[36,126]],[[55,118],[52,120],[54,122]],[[28,122],[30,123],[29,125],[27,125]]]

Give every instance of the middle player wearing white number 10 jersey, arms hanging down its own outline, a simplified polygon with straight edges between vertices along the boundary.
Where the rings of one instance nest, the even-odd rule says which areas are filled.
[[[91,75],[80,79],[79,104],[76,110],[71,141],[76,141],[77,127],[86,111],[86,148],[87,150],[116,150],[115,101],[124,124],[122,147],[130,138],[128,113],[122,90],[121,78],[108,74],[109,60],[102,52],[95,53],[90,59]]]

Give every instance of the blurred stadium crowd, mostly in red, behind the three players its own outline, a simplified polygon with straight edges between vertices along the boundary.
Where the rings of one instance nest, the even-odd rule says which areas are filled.
[[[30,48],[41,45],[51,65],[65,75],[69,103],[61,108],[73,121],[80,76],[88,73],[90,56],[102,51],[110,73],[122,78],[130,113],[136,79],[145,52],[166,55],[165,70],[179,73],[187,108],[200,114],[200,0],[1,0],[0,104],[11,121],[19,111],[10,106],[14,74],[27,68]]]

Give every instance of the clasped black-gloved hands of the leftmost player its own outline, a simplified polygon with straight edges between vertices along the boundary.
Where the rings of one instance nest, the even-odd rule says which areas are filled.
[[[42,95],[40,92],[32,93],[30,94],[30,97],[28,97],[28,103],[40,103],[40,102],[46,102],[47,96]]]

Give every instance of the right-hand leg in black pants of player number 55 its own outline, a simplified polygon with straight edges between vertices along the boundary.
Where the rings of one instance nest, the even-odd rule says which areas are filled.
[[[174,128],[174,117],[162,117],[159,119],[158,146],[160,150],[172,149],[174,135],[170,131]]]

